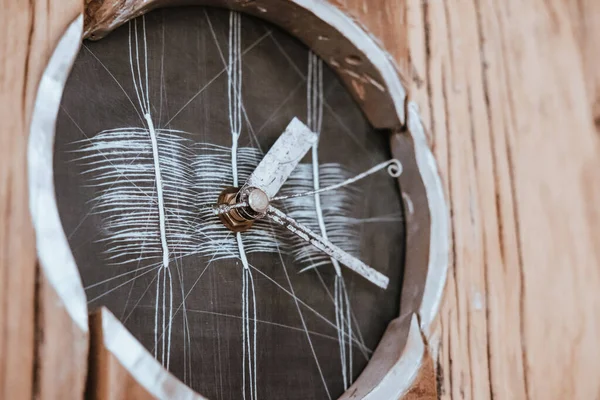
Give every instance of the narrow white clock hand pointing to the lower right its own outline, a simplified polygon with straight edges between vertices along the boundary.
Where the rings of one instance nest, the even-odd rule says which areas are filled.
[[[363,263],[356,257],[351,256],[344,250],[340,249],[329,240],[317,235],[306,226],[300,224],[298,221],[289,217],[284,212],[278,210],[273,206],[269,206],[267,210],[267,216],[273,221],[277,222],[281,226],[288,229],[290,232],[298,235],[302,239],[306,240],[317,249],[321,250],[330,257],[335,258],[346,267],[350,268],[354,272],[362,275],[365,279],[371,281],[380,288],[386,289],[389,283],[387,276],[381,272],[374,270],[367,264]]]

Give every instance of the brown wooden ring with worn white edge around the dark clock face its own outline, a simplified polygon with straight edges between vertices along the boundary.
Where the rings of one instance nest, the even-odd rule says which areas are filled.
[[[85,27],[84,16],[78,17],[54,50],[40,82],[31,122],[30,208],[42,271],[62,299],[73,323],[87,332],[86,297],[62,228],[54,191],[52,158],[60,99],[83,38],[101,38],[153,8],[175,5],[226,7],[282,27],[337,72],[374,127],[392,132],[392,153],[403,161],[404,167],[399,179],[407,224],[401,313],[390,322],[372,360],[341,399],[402,397],[421,369],[440,306],[448,268],[448,209],[417,107],[407,101],[391,56],[362,27],[329,3],[318,0],[89,0]],[[411,176],[412,179],[407,178]],[[91,322],[89,373],[92,377],[97,378],[94,374],[107,363],[116,362],[131,379],[129,384],[140,387],[140,393],[156,398],[202,398],[164,370],[110,312],[99,311]],[[100,397],[107,391],[118,390],[110,379],[115,378],[92,379],[93,393]]]

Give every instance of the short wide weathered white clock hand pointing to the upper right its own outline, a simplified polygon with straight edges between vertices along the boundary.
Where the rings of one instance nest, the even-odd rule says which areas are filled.
[[[257,188],[271,200],[317,139],[316,133],[294,118],[250,174],[242,192],[247,188]]]

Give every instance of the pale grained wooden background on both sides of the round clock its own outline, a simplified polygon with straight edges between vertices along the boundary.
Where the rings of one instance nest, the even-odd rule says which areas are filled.
[[[331,1],[396,58],[450,202],[441,398],[600,398],[600,2]],[[84,390],[87,333],[65,332],[26,200],[37,84],[82,7],[0,2],[4,399]]]

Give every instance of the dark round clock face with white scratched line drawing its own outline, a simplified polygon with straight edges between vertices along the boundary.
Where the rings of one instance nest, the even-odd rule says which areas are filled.
[[[390,158],[388,133],[302,43],[197,7],[83,43],[54,172],[90,309],[106,306],[210,399],[324,399],[352,384],[398,315],[404,223]],[[268,199],[246,200],[278,214],[234,232],[216,206],[224,190],[239,205],[226,189],[247,182]],[[386,289],[355,271],[365,264]]]

